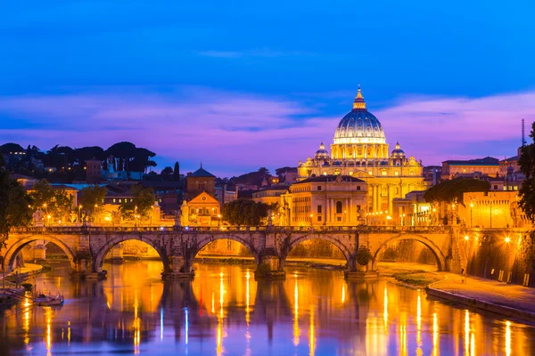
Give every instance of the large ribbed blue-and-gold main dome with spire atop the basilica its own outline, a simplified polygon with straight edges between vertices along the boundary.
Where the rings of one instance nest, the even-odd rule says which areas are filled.
[[[386,143],[383,127],[377,117],[366,109],[360,88],[353,109],[336,127],[334,144],[337,143]]]

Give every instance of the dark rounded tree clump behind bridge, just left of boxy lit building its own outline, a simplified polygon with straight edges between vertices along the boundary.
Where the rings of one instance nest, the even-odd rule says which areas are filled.
[[[238,199],[223,206],[223,219],[231,225],[258,226],[268,217],[268,211],[268,204]]]

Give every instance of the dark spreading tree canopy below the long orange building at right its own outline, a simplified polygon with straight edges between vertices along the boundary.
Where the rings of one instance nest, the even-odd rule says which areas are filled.
[[[465,192],[489,190],[489,182],[472,178],[458,178],[433,185],[425,192],[424,198],[429,202],[452,202],[455,198],[457,198],[458,202],[462,202],[463,193]]]

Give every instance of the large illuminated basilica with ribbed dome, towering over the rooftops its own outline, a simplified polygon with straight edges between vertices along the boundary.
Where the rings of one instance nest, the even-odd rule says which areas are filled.
[[[360,89],[353,109],[336,127],[331,152],[329,155],[322,143],[314,158],[300,161],[300,180],[320,175],[350,175],[366,182],[365,213],[391,214],[394,198],[427,188],[421,162],[414,157],[407,158],[399,143],[389,151],[383,127],[366,109]]]

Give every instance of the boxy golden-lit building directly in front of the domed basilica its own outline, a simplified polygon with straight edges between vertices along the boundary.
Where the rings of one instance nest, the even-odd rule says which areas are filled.
[[[350,175],[319,175],[281,194],[277,221],[285,226],[365,223],[366,182]]]

